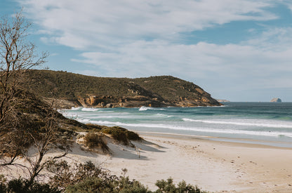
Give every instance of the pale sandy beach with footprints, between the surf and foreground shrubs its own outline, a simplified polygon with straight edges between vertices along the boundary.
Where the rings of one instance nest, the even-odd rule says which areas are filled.
[[[112,155],[68,155],[90,159],[112,174],[139,180],[151,190],[157,180],[185,180],[208,192],[292,192],[292,149],[184,135],[140,133],[135,147],[108,143]],[[139,157],[140,155],[140,157]]]

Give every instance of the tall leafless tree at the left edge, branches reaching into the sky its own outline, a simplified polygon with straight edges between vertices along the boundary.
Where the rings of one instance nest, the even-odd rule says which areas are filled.
[[[22,94],[27,69],[42,65],[47,56],[43,53],[36,59],[34,44],[27,42],[29,27],[31,23],[21,13],[0,20],[0,156],[5,157],[1,166],[13,164],[29,143],[25,138],[28,133],[25,130],[29,128],[19,129],[21,122],[26,120],[15,109],[15,106],[21,106],[16,98]]]

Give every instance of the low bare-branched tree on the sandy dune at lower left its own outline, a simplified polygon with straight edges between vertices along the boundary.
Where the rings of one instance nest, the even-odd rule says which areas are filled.
[[[70,136],[65,135],[60,129],[58,122],[60,114],[53,107],[54,101],[51,105],[45,102],[36,103],[39,104],[39,112],[43,112],[38,115],[41,124],[30,124],[29,119],[20,120],[20,127],[7,131],[6,135],[0,135],[0,168],[20,168],[27,177],[25,183],[27,188],[34,183],[48,162],[65,157],[71,145],[68,139]],[[55,157],[47,156],[55,150],[60,153]],[[17,162],[17,159],[22,161]]]

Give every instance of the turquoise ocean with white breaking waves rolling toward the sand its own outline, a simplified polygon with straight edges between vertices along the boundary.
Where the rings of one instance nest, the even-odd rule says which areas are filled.
[[[292,102],[224,102],[221,107],[77,107],[62,113],[85,124],[121,126],[137,132],[292,147]]]

